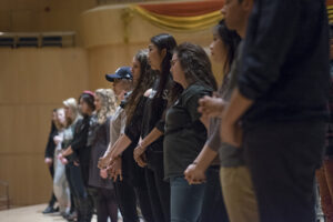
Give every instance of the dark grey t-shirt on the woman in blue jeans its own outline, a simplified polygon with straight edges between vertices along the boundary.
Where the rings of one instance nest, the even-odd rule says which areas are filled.
[[[206,129],[200,121],[199,99],[210,95],[211,89],[192,84],[167,112],[164,135],[165,179],[183,175],[206,141]]]

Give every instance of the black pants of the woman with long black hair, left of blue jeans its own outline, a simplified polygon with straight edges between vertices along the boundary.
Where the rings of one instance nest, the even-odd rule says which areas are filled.
[[[151,208],[157,222],[170,221],[170,183],[164,181],[163,152],[148,151],[149,168],[145,181]]]

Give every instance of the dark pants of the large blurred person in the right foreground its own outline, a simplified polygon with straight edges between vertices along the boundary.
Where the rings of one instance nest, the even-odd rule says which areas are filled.
[[[259,125],[244,133],[261,222],[313,222],[314,174],[325,141],[322,122]]]

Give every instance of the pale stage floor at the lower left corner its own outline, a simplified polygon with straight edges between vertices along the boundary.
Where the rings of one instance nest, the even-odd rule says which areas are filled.
[[[1,222],[61,222],[63,220],[59,213],[42,214],[42,211],[47,208],[47,204],[31,205],[24,208],[17,208],[11,210],[0,211]],[[95,222],[93,216],[92,222]]]

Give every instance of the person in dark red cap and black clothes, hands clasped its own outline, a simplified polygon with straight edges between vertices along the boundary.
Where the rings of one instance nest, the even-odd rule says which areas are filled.
[[[72,168],[79,168],[75,173],[70,173],[69,181],[73,186],[73,195],[78,211],[78,221],[90,222],[92,218],[93,202],[88,192],[89,181],[89,163],[90,163],[90,149],[87,145],[88,133],[90,128],[90,117],[94,111],[94,94],[90,91],[84,91],[80,98],[80,111],[83,119],[79,120],[75,129],[73,140],[70,145],[59,155],[62,162],[72,153],[78,157],[71,163]]]

